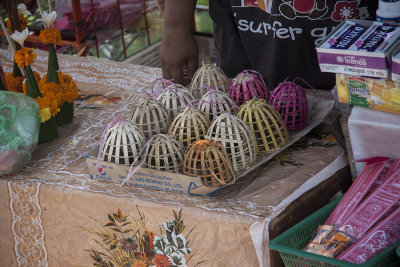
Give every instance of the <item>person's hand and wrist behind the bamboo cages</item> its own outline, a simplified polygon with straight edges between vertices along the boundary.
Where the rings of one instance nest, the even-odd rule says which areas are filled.
[[[188,84],[198,67],[198,48],[193,33],[179,27],[165,27],[160,60],[165,79]]]

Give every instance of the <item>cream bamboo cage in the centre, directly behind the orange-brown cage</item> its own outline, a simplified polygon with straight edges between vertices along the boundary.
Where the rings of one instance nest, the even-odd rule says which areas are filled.
[[[176,137],[186,147],[191,143],[204,139],[210,127],[207,115],[194,107],[181,110],[169,127],[168,134]]]

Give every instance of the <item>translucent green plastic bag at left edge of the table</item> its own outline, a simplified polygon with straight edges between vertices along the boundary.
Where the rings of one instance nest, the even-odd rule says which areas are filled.
[[[0,91],[0,174],[15,173],[30,161],[39,127],[39,105],[35,100]]]

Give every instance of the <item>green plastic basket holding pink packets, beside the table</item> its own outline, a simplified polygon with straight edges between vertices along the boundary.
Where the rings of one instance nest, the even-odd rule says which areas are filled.
[[[302,250],[304,247],[306,247],[318,226],[326,221],[339,201],[340,198],[331,201],[326,206],[317,210],[292,228],[275,237],[269,242],[268,247],[271,250],[278,251],[283,262],[285,263],[285,266],[290,267],[400,266],[400,258],[396,255],[396,247],[400,244],[400,240],[392,244],[390,247],[387,247],[363,264],[354,264]]]

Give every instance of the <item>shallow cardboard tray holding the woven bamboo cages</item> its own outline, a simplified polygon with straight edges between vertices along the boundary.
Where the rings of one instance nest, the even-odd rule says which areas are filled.
[[[313,103],[313,98],[311,98],[311,103]],[[292,132],[289,143],[278,151],[275,151],[271,154],[259,156],[256,162],[252,164],[252,166],[242,171],[241,173],[236,174],[236,180],[243,178],[248,173],[266,163],[267,161],[271,160],[287,147],[297,142],[301,137],[305,136],[309,131],[311,131],[314,127],[316,127],[324,120],[334,104],[334,100],[316,103],[315,109],[310,112],[311,116],[306,128],[301,131]],[[92,149],[88,153],[88,155],[86,155],[86,163],[91,179],[121,184],[121,182],[125,180],[129,172],[129,166],[118,165],[115,163],[109,163],[99,160],[100,173],[96,173],[98,151],[99,146]],[[128,184],[130,186],[146,187],[156,190],[200,196],[211,195],[222,188],[204,186],[199,177],[192,177],[172,172],[156,171],[146,168],[140,168],[139,171],[130,178]]]

